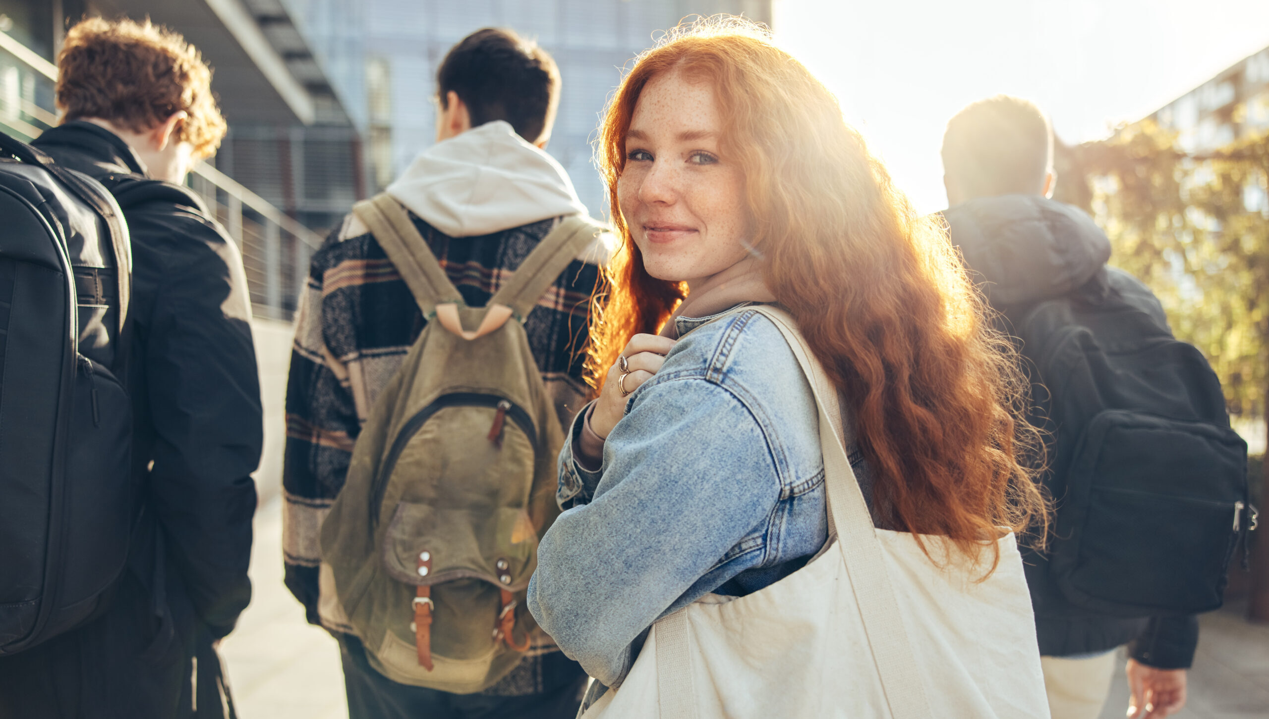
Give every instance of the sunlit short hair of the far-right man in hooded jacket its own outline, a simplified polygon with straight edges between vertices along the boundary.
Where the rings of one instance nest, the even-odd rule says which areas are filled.
[[[1052,161],[1048,118],[1022,98],[978,100],[943,134],[943,171],[968,197],[1039,193]]]

